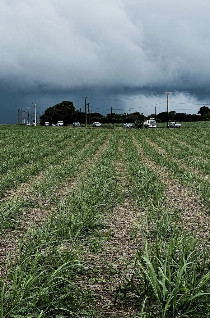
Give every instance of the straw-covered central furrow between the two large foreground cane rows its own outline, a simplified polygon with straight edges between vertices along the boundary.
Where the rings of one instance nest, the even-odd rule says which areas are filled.
[[[122,149],[120,152],[123,158]],[[143,238],[134,230],[139,221],[139,210],[126,187],[125,165],[119,161],[115,162],[114,166],[124,200],[114,208],[112,216],[107,215],[105,218],[105,224],[109,226],[109,238],[102,240],[100,250],[91,252],[90,246],[83,242],[85,267],[89,268],[89,271],[79,277],[77,284],[84,290],[91,290],[96,308],[102,317],[126,318],[136,315],[136,308],[128,305],[126,309],[124,302],[120,300],[114,304],[114,293],[123,280],[110,271],[106,264],[113,264],[116,269],[125,269],[125,262],[120,258],[133,260],[135,251],[143,244]]]

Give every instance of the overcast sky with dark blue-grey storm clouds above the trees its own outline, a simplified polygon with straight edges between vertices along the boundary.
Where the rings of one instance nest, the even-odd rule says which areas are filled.
[[[163,90],[196,114],[210,104],[209,16],[208,0],[1,0],[0,123],[82,96],[102,114],[159,113]]]

